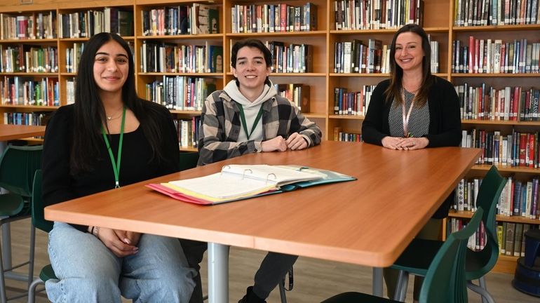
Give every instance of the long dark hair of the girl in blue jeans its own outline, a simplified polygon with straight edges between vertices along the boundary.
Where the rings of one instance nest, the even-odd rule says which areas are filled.
[[[159,112],[156,107],[147,106],[145,103],[148,101],[137,96],[135,66],[130,47],[119,35],[102,32],[95,34],[85,43],[79,62],[75,88],[73,144],[71,159],[69,159],[72,173],[92,170],[91,163],[99,157],[100,149],[104,144],[101,126],[107,125],[107,119],[99,89],[94,80],[93,68],[95,53],[109,41],[119,43],[128,54],[129,71],[126,83],[122,86],[122,102],[140,122],[140,127],[151,146],[150,160],[163,159],[161,154],[162,135],[158,126]]]

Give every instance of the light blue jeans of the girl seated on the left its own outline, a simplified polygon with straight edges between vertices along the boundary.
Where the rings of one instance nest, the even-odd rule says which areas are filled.
[[[143,234],[139,252],[116,257],[92,234],[55,222],[48,253],[58,280],[46,282],[52,302],[189,302],[196,271],[177,238]]]

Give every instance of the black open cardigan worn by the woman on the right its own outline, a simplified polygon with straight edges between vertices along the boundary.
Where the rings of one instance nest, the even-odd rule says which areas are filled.
[[[384,91],[390,80],[382,81],[373,90],[367,113],[362,123],[364,142],[382,145],[382,139],[390,135],[389,112],[391,102],[386,102]],[[459,146],[461,143],[461,114],[459,97],[452,83],[435,77],[428,95],[429,128],[425,136],[429,140],[427,147]],[[450,204],[454,200],[454,192],[436,211],[433,218],[447,217]]]

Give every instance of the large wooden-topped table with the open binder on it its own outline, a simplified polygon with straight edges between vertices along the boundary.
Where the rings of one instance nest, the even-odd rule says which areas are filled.
[[[207,241],[210,302],[229,302],[229,245],[374,267],[374,293],[382,295],[381,268],[393,264],[479,155],[480,149],[394,151],[325,141],[304,151],[249,154],[151,182],[208,175],[229,163],[298,164],[358,180],[218,206],[182,203],[141,182],[49,206],[45,217]]]

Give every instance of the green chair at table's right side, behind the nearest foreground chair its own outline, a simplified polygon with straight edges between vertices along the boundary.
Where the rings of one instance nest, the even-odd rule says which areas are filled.
[[[494,302],[490,293],[487,292],[484,276],[494,267],[499,257],[495,210],[505,184],[506,179],[501,177],[495,166],[492,166],[482,180],[476,199],[476,206],[485,210],[482,223],[487,234],[487,241],[485,248],[481,251],[467,250],[466,279],[468,281],[467,287],[482,295],[482,302]],[[393,269],[400,270],[395,299],[405,300],[408,274],[426,276],[431,260],[442,245],[443,241],[423,239],[414,239],[410,243],[405,252],[392,265]],[[472,283],[476,279],[480,281],[480,286]]]

